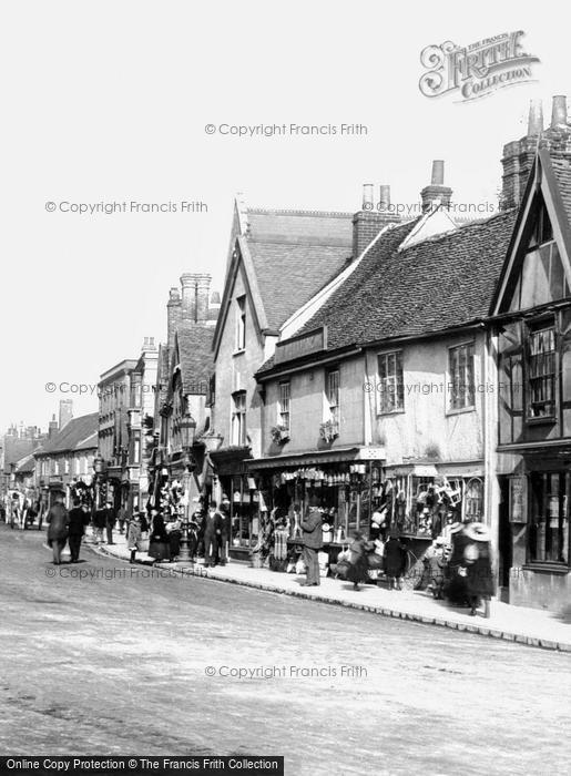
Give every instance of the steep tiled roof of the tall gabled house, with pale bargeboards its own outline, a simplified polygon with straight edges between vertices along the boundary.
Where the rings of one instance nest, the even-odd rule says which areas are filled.
[[[281,325],[350,259],[353,214],[234,206],[231,252],[214,350],[226,323],[236,276],[243,273],[258,331]],[[238,217],[239,215],[239,217]]]

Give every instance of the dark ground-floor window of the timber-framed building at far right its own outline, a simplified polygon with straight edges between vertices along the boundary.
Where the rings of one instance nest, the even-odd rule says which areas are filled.
[[[563,471],[531,474],[528,557],[531,562],[568,563],[569,517]]]

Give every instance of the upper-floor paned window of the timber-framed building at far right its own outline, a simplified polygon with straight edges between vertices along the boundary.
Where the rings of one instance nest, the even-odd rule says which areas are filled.
[[[555,328],[537,325],[528,339],[528,418],[555,415]]]

